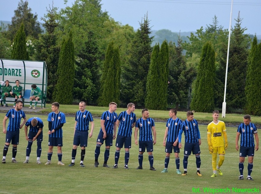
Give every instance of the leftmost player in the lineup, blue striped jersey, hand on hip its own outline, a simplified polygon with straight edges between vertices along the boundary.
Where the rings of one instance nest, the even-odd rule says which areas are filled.
[[[25,117],[25,113],[24,111],[22,111],[23,108],[23,102],[21,100],[17,100],[16,104],[15,104],[15,108],[9,110],[6,113],[6,116],[4,117],[3,120],[3,133],[6,134],[6,143],[4,146],[4,151],[3,151],[3,159],[2,159],[2,163],[5,164],[6,163],[6,154],[8,151],[8,147],[12,141],[12,145],[13,145],[13,150],[12,150],[12,162],[13,163],[17,163],[17,161],[15,160],[15,156],[17,153],[17,145],[19,144],[19,132],[26,122],[26,117]],[[20,125],[21,123],[21,119],[24,119],[23,123]],[[6,121],[7,119],[9,119],[9,123],[8,123],[8,127],[6,130]]]

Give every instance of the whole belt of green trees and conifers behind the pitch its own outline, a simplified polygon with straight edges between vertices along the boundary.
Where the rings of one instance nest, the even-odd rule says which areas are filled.
[[[153,44],[148,15],[135,32],[101,10],[100,0],[76,0],[59,12],[49,5],[40,29],[37,14],[21,0],[8,29],[0,28],[0,58],[47,63],[47,98],[61,104],[85,101],[108,106],[132,102],[166,110],[221,110],[228,30],[213,23],[186,38],[162,30]],[[232,28],[227,110],[261,115],[261,44],[244,34],[240,15]],[[167,36],[167,35],[166,35]],[[252,41],[253,39],[253,41]],[[161,44],[161,45],[160,45]]]

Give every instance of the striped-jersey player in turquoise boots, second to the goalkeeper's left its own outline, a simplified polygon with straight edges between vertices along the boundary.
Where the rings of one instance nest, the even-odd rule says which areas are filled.
[[[178,145],[179,139],[178,134],[180,130],[180,125],[182,121],[177,118],[177,110],[172,108],[169,110],[169,119],[166,123],[166,131],[163,139],[163,146],[165,146],[166,158],[165,158],[165,168],[162,170],[162,173],[168,172],[168,163],[169,163],[169,156],[172,153],[172,150],[175,153],[175,162],[176,162],[176,173],[181,174],[180,172],[180,148]],[[167,139],[167,141],[166,141]]]

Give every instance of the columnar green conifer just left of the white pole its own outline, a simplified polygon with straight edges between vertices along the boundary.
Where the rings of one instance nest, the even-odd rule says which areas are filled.
[[[198,112],[214,110],[215,71],[215,51],[212,44],[207,42],[202,48],[191,109]]]

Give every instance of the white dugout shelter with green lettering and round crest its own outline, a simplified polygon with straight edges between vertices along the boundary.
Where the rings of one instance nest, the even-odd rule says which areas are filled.
[[[47,65],[45,61],[23,61],[12,59],[0,59],[0,80],[9,80],[10,86],[15,86],[15,80],[20,81],[20,86],[23,87],[22,96],[31,91],[31,85],[36,84],[46,95],[47,90]],[[29,104],[29,99],[23,99],[24,103]],[[6,98],[7,102],[14,102],[14,98]],[[43,107],[44,99],[41,101]],[[13,103],[11,103],[13,105]]]

